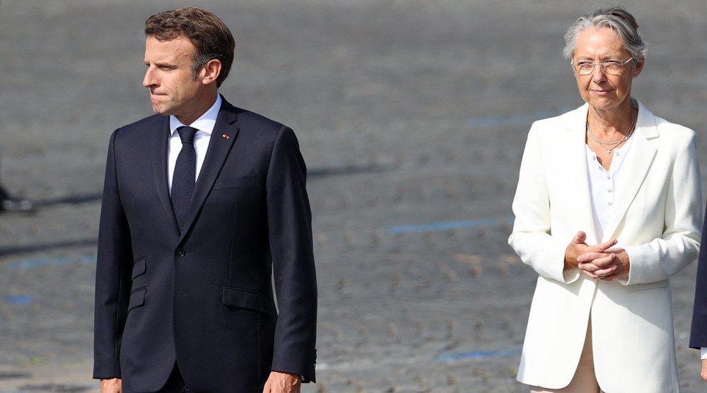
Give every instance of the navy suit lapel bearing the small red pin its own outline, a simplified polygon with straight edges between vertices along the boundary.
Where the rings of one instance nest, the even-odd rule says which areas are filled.
[[[204,205],[206,197],[214,186],[214,181],[216,181],[218,174],[221,173],[221,168],[226,162],[226,157],[228,157],[233,143],[238,138],[239,128],[235,126],[235,121],[237,120],[235,107],[226,102],[223,96],[221,96],[221,99],[223,100],[221,110],[218,112],[214,131],[211,132],[209,148],[206,150],[204,164],[201,165],[201,171],[199,171],[199,179],[194,185],[194,194],[192,195],[191,205],[189,205],[189,217],[187,217],[187,229],[182,234],[181,239],[184,239],[184,235],[189,232],[189,228],[194,224],[201,206]],[[227,137],[223,135],[227,135]]]

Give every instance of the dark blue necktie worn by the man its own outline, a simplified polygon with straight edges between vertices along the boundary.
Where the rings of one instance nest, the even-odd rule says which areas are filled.
[[[192,201],[194,183],[197,181],[197,151],[194,150],[194,135],[197,135],[197,131],[199,130],[187,126],[177,128],[177,133],[182,138],[182,150],[177,155],[171,196],[180,234],[184,233],[187,224],[189,202]]]

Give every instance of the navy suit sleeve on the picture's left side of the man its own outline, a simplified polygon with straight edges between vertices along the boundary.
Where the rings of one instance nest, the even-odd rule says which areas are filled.
[[[129,300],[132,248],[120,202],[115,139],[110,138],[98,229],[93,325],[93,377],[120,377],[120,341]]]

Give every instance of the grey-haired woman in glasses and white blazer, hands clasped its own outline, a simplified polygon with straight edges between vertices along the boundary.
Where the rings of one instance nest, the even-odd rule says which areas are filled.
[[[624,8],[568,30],[586,104],[533,123],[509,238],[538,274],[518,380],[531,392],[679,392],[670,282],[697,258],[695,133],[631,97],[646,44]]]

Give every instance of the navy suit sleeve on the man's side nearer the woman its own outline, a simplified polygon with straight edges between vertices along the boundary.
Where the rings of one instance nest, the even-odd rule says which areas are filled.
[[[315,381],[317,278],[306,168],[297,139],[282,127],[267,175],[267,210],[279,315],[272,370]]]

